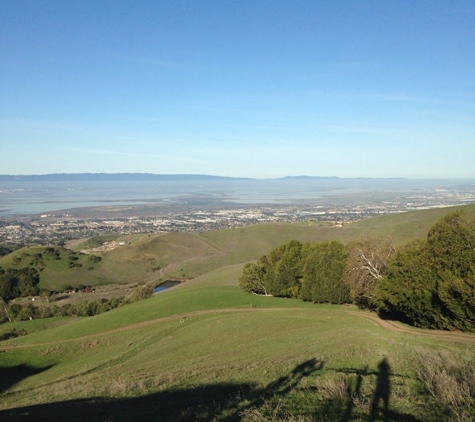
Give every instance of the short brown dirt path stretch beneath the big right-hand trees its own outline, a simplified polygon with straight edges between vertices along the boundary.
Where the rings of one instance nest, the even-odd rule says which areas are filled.
[[[475,334],[462,333],[460,331],[441,331],[441,330],[428,330],[422,328],[413,328],[407,325],[401,324],[396,321],[389,321],[379,318],[377,315],[364,312],[364,311],[347,311],[351,315],[356,315],[377,324],[386,330],[394,333],[407,333],[414,334],[423,337],[429,337],[433,339],[440,339],[445,341],[454,341],[466,344],[475,344]]]

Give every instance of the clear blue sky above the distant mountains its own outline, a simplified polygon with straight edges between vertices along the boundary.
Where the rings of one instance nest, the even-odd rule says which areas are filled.
[[[0,174],[475,178],[475,2],[0,2]]]

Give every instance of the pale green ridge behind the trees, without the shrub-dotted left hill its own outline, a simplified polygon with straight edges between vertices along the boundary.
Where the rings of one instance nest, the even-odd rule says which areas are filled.
[[[126,247],[103,255],[107,276],[127,280],[159,280],[167,277],[195,278],[224,265],[258,259],[279,245],[296,239],[301,242],[339,240],[348,243],[364,236],[391,237],[404,244],[424,237],[429,228],[455,208],[430,209],[361,220],[343,227],[318,222],[258,224],[231,230],[204,233],[168,233],[135,237]],[[475,205],[463,207],[475,218]],[[108,264],[107,264],[108,263]],[[109,266],[107,266],[109,265]]]

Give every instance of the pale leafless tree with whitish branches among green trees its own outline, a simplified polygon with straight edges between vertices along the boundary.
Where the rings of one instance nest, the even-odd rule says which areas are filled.
[[[391,239],[368,237],[348,245],[344,280],[353,302],[360,308],[376,309],[376,287],[387,274],[388,262],[395,253]]]

